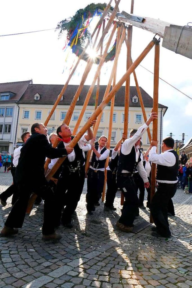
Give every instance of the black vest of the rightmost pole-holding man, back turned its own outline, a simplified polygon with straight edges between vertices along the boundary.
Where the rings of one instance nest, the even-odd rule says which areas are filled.
[[[157,180],[167,180],[167,181],[176,181],[177,180],[177,172],[179,167],[179,157],[177,155],[177,152],[174,150],[169,151],[170,153],[173,153],[176,158],[175,165],[168,167],[163,165],[157,165]]]

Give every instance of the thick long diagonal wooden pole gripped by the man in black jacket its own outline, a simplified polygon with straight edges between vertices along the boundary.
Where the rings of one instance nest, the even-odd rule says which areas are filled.
[[[149,51],[155,45],[156,41],[157,41],[157,39],[153,38],[153,40],[146,46],[146,48],[139,55],[139,57],[134,61],[134,63],[131,65],[131,67],[129,67],[129,69],[122,76],[122,78],[119,80],[119,82],[113,87],[113,89],[110,91],[110,93],[104,99],[104,101],[102,101],[101,104],[97,107],[97,109],[94,111],[94,113],[91,115],[91,117],[85,123],[85,125],[81,128],[81,130],[78,132],[78,134],[73,138],[73,140],[69,144],[69,147],[73,148],[77,144],[77,142],[82,137],[82,135],[87,131],[88,127],[90,127],[91,121],[95,120],[98,117],[98,115],[104,110],[104,108],[109,103],[109,101],[113,98],[113,96],[116,94],[116,92],[120,89],[120,87],[126,81],[127,77],[129,75],[131,75],[131,73],[133,73],[133,71],[137,68],[137,66],[141,63],[141,61],[145,58],[145,56],[149,53]],[[62,158],[58,159],[58,161],[55,163],[55,165],[52,167],[52,169],[46,175],[47,181],[49,181],[50,178],[55,174],[55,172],[58,170],[58,168],[63,163],[65,158],[66,157],[62,157]]]

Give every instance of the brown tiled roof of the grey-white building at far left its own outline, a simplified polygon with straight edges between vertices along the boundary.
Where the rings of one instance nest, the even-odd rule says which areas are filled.
[[[31,80],[27,81],[19,81],[19,82],[7,82],[7,83],[0,83],[0,93],[2,92],[13,92],[14,95],[11,97],[10,100],[1,101],[3,102],[11,102],[11,101],[18,101],[22,94],[25,92],[27,86],[31,83]]]

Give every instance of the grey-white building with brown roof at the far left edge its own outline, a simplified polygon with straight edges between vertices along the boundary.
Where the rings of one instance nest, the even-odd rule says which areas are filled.
[[[19,116],[18,101],[31,80],[0,83],[0,152],[13,153]]]

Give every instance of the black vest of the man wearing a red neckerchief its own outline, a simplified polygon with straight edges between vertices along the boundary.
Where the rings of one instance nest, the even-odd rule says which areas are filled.
[[[73,140],[74,136],[71,136],[71,140]],[[58,148],[64,148],[64,143],[61,141]],[[76,172],[76,170],[81,170],[82,166],[85,162],[85,158],[83,157],[82,149],[79,147],[78,143],[74,146],[75,152],[75,160],[70,162],[68,157],[63,161],[62,166],[63,168],[68,167],[70,172]]]

